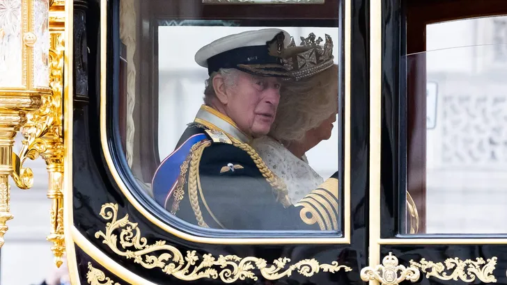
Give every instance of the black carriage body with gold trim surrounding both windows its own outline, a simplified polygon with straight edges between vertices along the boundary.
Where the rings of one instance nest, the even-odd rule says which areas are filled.
[[[126,103],[120,95],[125,80],[120,1],[123,0],[88,1],[86,5],[77,5],[75,1],[74,7],[75,82],[80,83],[80,90],[86,89],[82,87],[84,82],[88,88],[87,93],[78,92],[75,83],[72,201],[68,203],[67,199],[65,205],[66,209],[72,209],[72,229],[65,230],[68,258],[77,263],[77,271],[72,271],[69,263],[71,274],[76,273],[75,282],[86,284],[92,273],[102,272],[118,284],[224,284],[231,280],[234,284],[364,284],[361,277],[369,276],[363,274],[363,269],[382,264],[382,259],[392,254],[399,264],[421,270],[421,277],[414,284],[483,284],[493,279],[497,284],[507,284],[505,235],[425,234],[426,186],[420,195],[414,195],[421,219],[417,221],[419,234],[407,234],[408,198],[403,194],[405,190],[415,193],[409,182],[416,179],[413,169],[421,164],[414,163],[417,159],[414,157],[426,147],[414,144],[414,140],[421,139],[414,129],[418,128],[418,114],[426,111],[426,103],[411,97],[413,90],[407,88],[420,80],[415,75],[407,78],[411,67],[407,54],[426,51],[426,24],[507,13],[507,3],[484,0],[478,5],[481,8],[474,10],[466,8],[466,4],[471,7],[476,2],[465,0],[378,3],[325,0],[324,4],[269,5],[141,1],[137,16],[142,25],[136,27],[137,68],[141,75],[137,79],[139,89],[146,92],[136,99],[137,115],[143,119],[135,138],[142,147],[136,150],[139,156],[134,160],[145,162],[135,170],[145,179],[153,175],[161,160],[157,132],[153,131],[158,128],[160,111],[156,97],[158,74],[154,70],[159,65],[157,33],[161,23],[162,26],[180,21],[189,26],[224,26],[227,22],[249,27],[338,27],[338,133],[342,143],[336,147],[340,156],[338,165],[343,170],[340,193],[349,201],[341,202],[341,231],[324,234],[203,229],[170,218],[156,206],[132,174],[134,170],[128,165],[122,140],[125,137],[122,106]],[[440,13],[431,12],[440,8],[444,9]],[[455,10],[451,13],[445,9]],[[284,17],[276,19],[276,15]],[[77,42],[83,38],[77,35],[86,35],[86,44],[82,40]],[[180,44],[184,39],[173,40]],[[417,103],[424,108],[419,109]],[[145,107],[146,104],[153,108]],[[378,122],[373,120],[375,117]],[[426,134],[423,139],[426,140]],[[442,271],[414,265],[423,264],[424,260],[445,263],[449,259],[456,262],[455,267],[443,271],[448,275],[454,272],[458,275],[455,279],[447,278]],[[471,267],[480,272],[469,273],[466,268],[471,263],[467,260],[478,259],[484,262]],[[210,260],[217,263],[208,266]],[[218,260],[226,266],[219,266]],[[250,263],[242,263],[247,260]],[[279,261],[286,264],[280,265]],[[326,266],[334,261],[347,270],[329,270]],[[237,267],[245,264],[250,267]],[[182,269],[187,265],[188,270]],[[202,267],[193,271],[198,266]],[[266,270],[271,266],[279,267]],[[290,273],[286,274],[286,270]],[[310,273],[305,274],[305,270]],[[436,273],[427,275],[431,270]],[[460,277],[460,272],[469,279]]]

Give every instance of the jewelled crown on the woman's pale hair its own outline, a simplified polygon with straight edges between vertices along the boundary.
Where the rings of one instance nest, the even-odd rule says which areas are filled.
[[[286,47],[286,54],[290,56],[284,56],[283,66],[292,79],[299,80],[313,76],[333,65],[333,40],[327,34],[325,38],[326,42],[321,46],[322,38],[315,40],[315,34],[310,33],[308,38],[301,37],[302,42],[299,47],[296,46],[294,38],[291,38],[290,44]],[[298,50],[302,51],[297,52]],[[292,54],[291,51],[295,53]]]

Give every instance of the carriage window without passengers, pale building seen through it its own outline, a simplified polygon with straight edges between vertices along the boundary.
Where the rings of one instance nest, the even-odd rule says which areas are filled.
[[[507,17],[426,32],[405,58],[407,233],[506,234]]]

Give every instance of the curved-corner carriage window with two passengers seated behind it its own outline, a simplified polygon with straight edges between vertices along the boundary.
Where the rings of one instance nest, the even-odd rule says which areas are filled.
[[[336,236],[338,1],[178,8],[213,19],[168,17],[181,13],[173,2],[120,7],[118,122],[134,190],[198,227]],[[285,19],[326,7],[336,18]],[[269,16],[230,19],[251,18],[245,9]]]

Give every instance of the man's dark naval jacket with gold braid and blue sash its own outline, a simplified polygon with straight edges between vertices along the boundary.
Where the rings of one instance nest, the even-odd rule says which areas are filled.
[[[232,120],[202,106],[152,182],[176,217],[214,229],[338,229],[337,174],[290,204],[276,177]]]

